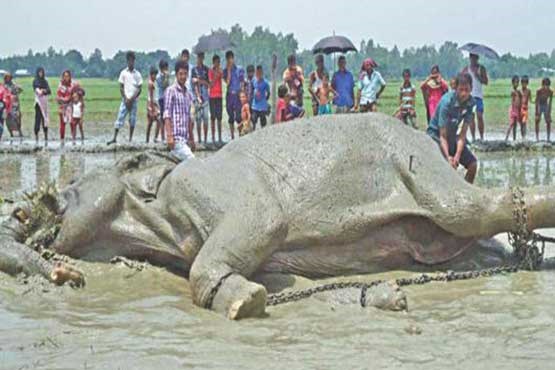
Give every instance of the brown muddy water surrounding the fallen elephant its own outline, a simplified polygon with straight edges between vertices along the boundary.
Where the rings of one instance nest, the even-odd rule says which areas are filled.
[[[553,181],[553,157],[480,157],[481,186]],[[44,180],[65,184],[114,160],[0,157],[0,191],[17,196]],[[409,288],[406,314],[311,299],[237,323],[194,307],[187,282],[164,270],[78,267],[88,278],[84,290],[0,276],[0,369],[544,369],[555,363],[552,271]],[[411,334],[415,328],[422,333]]]

